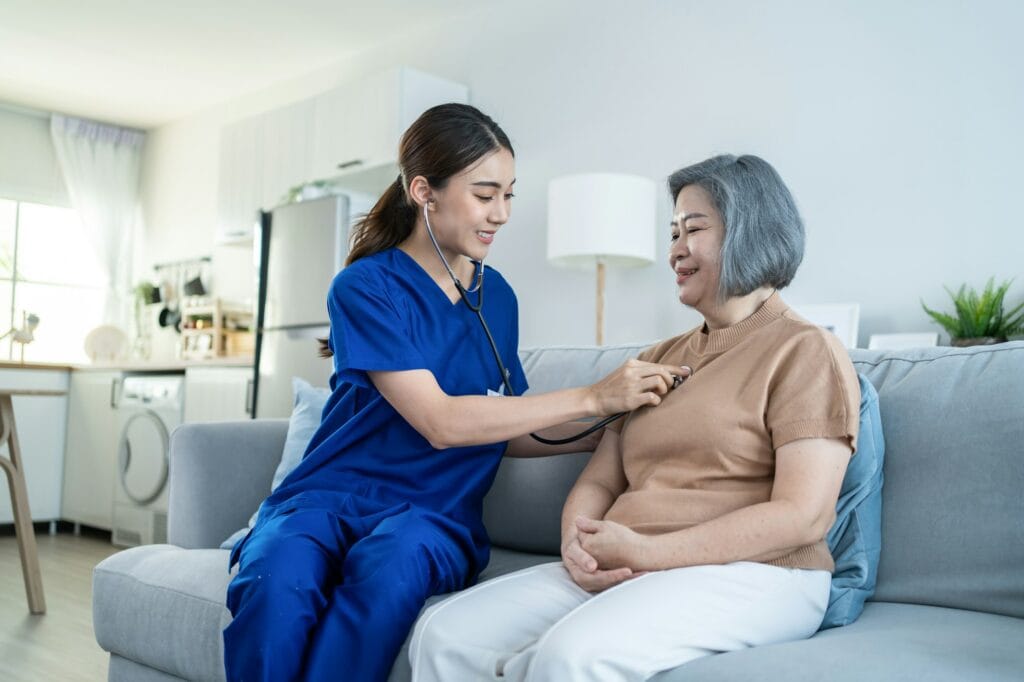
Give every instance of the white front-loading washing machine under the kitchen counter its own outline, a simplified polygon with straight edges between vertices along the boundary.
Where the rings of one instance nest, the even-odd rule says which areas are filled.
[[[184,414],[184,376],[125,377],[118,413],[111,540],[121,547],[166,543],[168,445]]]

